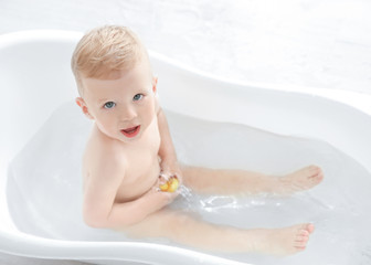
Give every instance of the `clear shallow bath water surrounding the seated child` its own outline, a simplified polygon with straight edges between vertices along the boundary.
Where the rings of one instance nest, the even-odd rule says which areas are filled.
[[[316,226],[307,250],[294,256],[211,254],[251,264],[371,263],[371,176],[352,158],[316,139],[166,113],[183,163],[269,174],[318,165],[325,172],[318,187],[288,198],[204,197],[181,188],[182,195],[170,206],[199,214],[208,222],[244,229],[301,222]],[[21,231],[68,241],[134,241],[117,232],[87,227],[82,220],[81,161],[91,127],[74,103],[67,103],[14,158],[9,167],[7,195]]]

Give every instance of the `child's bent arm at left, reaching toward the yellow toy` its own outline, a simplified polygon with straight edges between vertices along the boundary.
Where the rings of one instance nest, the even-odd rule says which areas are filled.
[[[100,163],[102,167],[103,163]],[[169,204],[174,193],[161,192],[152,188],[141,198],[125,202],[115,202],[117,189],[125,174],[120,163],[105,161],[89,177],[84,192],[84,220],[93,227],[119,229],[146,219],[149,214]]]

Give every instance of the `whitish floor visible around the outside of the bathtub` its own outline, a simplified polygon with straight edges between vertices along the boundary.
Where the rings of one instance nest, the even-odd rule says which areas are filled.
[[[124,24],[148,49],[222,78],[371,94],[370,13],[369,0],[0,0],[0,34]]]

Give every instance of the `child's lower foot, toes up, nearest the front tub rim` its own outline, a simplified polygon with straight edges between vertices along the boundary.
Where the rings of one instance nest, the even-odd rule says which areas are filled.
[[[297,224],[284,229],[253,230],[255,251],[273,255],[292,255],[304,251],[315,226],[310,223]],[[254,234],[255,233],[255,234]]]

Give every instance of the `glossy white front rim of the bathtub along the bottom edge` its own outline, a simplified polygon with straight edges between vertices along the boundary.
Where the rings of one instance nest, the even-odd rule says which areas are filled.
[[[109,261],[123,261],[162,265],[167,264],[163,263],[166,261],[176,261],[181,257],[182,262],[180,265],[195,263],[252,265],[191,250],[155,243],[65,241],[44,239],[23,232],[15,234],[3,231],[0,231],[0,252],[33,258],[86,262],[107,261],[108,263]],[[142,255],[142,250],[146,250],[146,256]],[[158,252],[166,255],[158,258]]]

